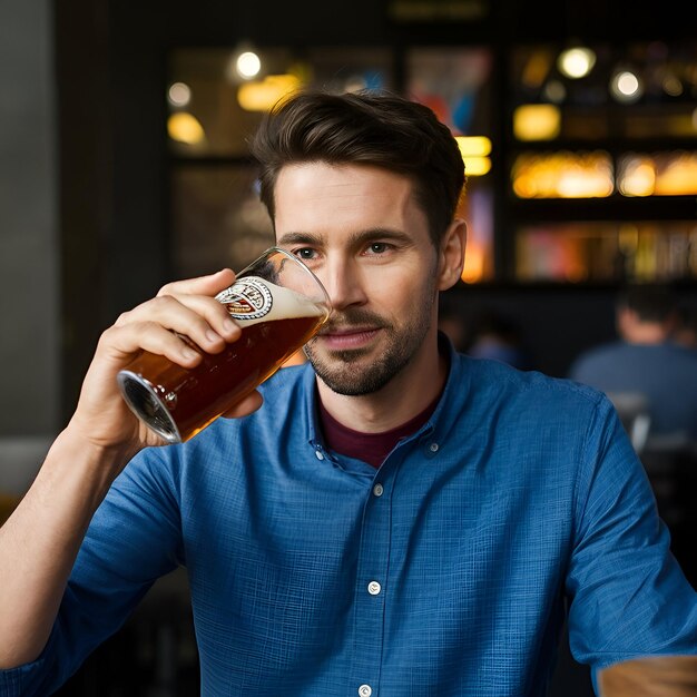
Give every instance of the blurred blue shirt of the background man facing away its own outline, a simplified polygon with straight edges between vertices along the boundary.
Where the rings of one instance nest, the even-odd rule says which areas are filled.
[[[697,440],[697,352],[670,343],[618,341],[583,353],[569,375],[603,392],[642,394],[651,433]]]

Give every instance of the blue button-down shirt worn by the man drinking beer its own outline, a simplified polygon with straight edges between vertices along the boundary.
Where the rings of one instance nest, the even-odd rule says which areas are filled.
[[[596,668],[697,652],[697,595],[607,399],[451,360],[431,419],[379,470],[324,448],[310,365],[263,385],[258,412],[140,453],[47,648],[0,693],[48,694],[177,565],[205,697],[543,695],[565,597]]]

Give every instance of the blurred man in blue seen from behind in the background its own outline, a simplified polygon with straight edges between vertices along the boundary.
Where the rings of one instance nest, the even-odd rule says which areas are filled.
[[[611,395],[641,395],[651,435],[697,441],[697,355],[673,341],[677,322],[671,288],[624,288],[616,303],[618,341],[582,353],[570,377]]]

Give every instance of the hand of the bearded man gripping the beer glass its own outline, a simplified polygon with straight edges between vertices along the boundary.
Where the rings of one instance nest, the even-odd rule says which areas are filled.
[[[164,444],[126,405],[117,373],[141,350],[194,367],[200,354],[178,335],[188,336],[208,353],[219,353],[227,343],[237,341],[239,327],[214,297],[234,279],[235,274],[226,268],[170,283],[155,298],[119,316],[99,340],[69,430],[96,446],[125,449],[128,458],[146,445]],[[261,395],[254,392],[225,415],[244,416],[261,403]]]

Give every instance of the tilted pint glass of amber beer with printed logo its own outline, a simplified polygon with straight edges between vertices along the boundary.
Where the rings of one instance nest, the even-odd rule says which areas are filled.
[[[130,410],[169,443],[189,440],[271,377],[330,315],[317,277],[294,255],[272,247],[218,293],[242,336],[194,369],[141,352],[118,374]]]

